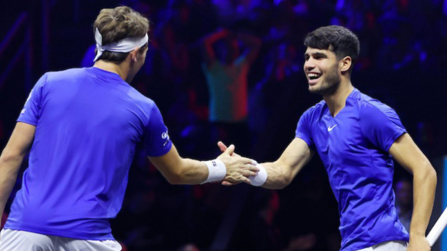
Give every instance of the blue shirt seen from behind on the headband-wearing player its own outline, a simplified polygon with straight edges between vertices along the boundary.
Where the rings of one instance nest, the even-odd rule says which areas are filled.
[[[171,149],[152,100],[95,67],[50,72],[18,118],[36,126],[5,228],[89,240],[114,239],[136,144],[149,156]]]

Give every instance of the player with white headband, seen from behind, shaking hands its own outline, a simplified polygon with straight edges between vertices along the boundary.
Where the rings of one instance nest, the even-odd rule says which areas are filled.
[[[0,250],[121,250],[110,218],[121,209],[129,167],[142,142],[171,184],[250,183],[258,168],[230,157],[178,155],[160,111],[129,83],[145,62],[149,22],[131,8],[101,10],[94,67],[48,72],[31,91],[0,157],[0,212],[30,149]]]

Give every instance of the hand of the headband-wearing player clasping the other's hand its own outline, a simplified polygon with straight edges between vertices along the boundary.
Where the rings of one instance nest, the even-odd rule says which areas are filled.
[[[231,184],[245,182],[247,184],[251,184],[248,177],[256,176],[259,171],[259,168],[253,166],[253,160],[247,157],[240,157],[234,153],[233,144],[225,149],[225,151],[223,151],[217,159],[221,160],[227,167],[227,174],[225,175],[223,182]]]

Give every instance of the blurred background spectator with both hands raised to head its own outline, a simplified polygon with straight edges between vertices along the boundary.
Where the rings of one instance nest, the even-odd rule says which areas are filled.
[[[239,41],[247,52],[240,53]],[[204,41],[202,68],[209,88],[209,121],[217,140],[235,144],[242,155],[247,155],[250,142],[247,77],[260,46],[255,36],[235,35],[226,29],[210,34]]]

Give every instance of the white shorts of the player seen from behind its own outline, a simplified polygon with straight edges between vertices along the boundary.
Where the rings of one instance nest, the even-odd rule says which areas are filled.
[[[0,233],[1,251],[121,251],[118,241],[88,241],[3,229]]]

